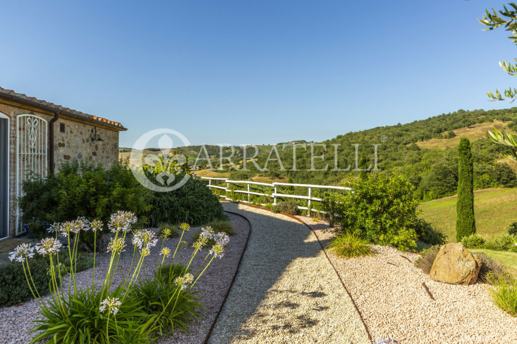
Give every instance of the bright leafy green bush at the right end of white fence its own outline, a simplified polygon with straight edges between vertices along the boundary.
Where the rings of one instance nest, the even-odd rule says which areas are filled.
[[[393,245],[402,251],[416,247],[419,202],[406,178],[369,174],[350,186],[354,192],[324,197],[325,210],[336,215],[339,231],[353,232],[372,243]]]

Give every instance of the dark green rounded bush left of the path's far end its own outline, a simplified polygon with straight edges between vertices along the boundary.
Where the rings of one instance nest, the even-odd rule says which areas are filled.
[[[180,180],[181,177],[176,178]],[[192,226],[224,218],[223,207],[206,184],[189,178],[185,185],[170,192],[153,192],[147,212],[150,226],[160,222],[189,223]]]

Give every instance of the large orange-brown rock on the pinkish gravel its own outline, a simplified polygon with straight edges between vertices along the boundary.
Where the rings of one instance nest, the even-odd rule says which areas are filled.
[[[481,260],[470,254],[462,243],[440,247],[431,267],[431,279],[449,284],[474,284],[481,269]]]

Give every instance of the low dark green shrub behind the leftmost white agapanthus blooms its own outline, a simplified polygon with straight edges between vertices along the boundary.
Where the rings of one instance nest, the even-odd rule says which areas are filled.
[[[68,251],[62,251],[60,257],[63,257],[60,263],[70,267]],[[47,294],[50,281],[50,276],[47,274],[47,269],[50,266],[48,258],[36,254],[28,262],[36,289],[40,295]],[[93,267],[93,257],[78,253],[77,271],[83,271],[91,267]],[[0,267],[0,306],[12,306],[32,298],[33,295],[27,285],[21,263],[11,262],[4,267]]]

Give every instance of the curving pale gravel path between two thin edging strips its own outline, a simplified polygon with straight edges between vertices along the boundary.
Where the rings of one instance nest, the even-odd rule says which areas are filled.
[[[225,203],[251,223],[239,272],[209,343],[367,343],[320,244],[281,214]]]

